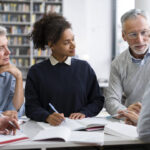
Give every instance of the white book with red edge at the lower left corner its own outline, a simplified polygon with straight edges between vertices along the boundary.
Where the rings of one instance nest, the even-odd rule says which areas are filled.
[[[16,135],[0,135],[0,146],[28,139],[29,138],[20,131],[17,131]]]

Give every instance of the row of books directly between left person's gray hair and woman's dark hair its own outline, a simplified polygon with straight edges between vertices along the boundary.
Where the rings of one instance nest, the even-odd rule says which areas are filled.
[[[30,32],[30,26],[5,26],[9,34],[28,34]]]

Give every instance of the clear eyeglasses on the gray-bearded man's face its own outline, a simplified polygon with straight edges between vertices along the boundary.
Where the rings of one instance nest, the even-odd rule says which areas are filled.
[[[127,36],[129,39],[137,39],[138,34],[140,34],[142,37],[150,37],[150,30],[143,30],[141,32],[131,32],[128,33]]]

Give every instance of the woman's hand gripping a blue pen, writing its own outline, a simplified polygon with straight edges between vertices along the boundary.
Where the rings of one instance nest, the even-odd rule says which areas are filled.
[[[65,120],[64,114],[63,113],[56,113],[56,112],[49,115],[48,118],[46,119],[46,121],[53,126],[60,125],[61,122],[64,120]]]

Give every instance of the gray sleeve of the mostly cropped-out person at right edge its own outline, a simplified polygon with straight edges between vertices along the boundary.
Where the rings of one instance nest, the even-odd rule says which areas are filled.
[[[142,100],[142,110],[138,120],[137,131],[141,140],[150,142],[150,83]]]

